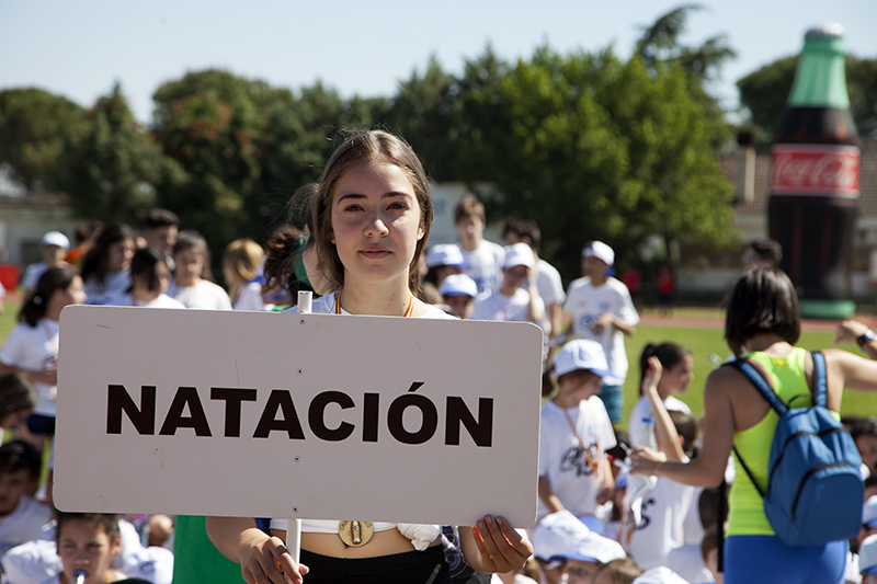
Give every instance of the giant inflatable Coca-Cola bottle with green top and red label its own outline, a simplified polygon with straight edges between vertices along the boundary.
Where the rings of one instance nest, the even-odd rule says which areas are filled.
[[[858,134],[846,93],[843,27],[808,31],[774,136],[768,222],[802,317],[842,319],[858,215]]]

